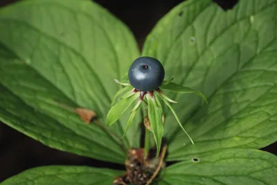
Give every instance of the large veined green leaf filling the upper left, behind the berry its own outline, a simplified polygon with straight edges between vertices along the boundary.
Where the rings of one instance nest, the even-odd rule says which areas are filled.
[[[30,0],[2,8],[0,85],[3,91],[10,92],[1,97],[4,104],[0,120],[47,145],[49,140],[59,137],[53,141],[56,144],[51,144],[54,148],[123,162],[122,151],[118,151],[120,155],[114,152],[114,158],[106,155],[112,155],[110,148],[117,150],[118,146],[112,140],[99,139],[99,135],[106,135],[103,130],[73,119],[61,104],[91,109],[105,125],[112,97],[120,87],[114,78],[120,79],[120,74],[127,71],[138,55],[129,30],[91,1]],[[7,114],[10,107],[17,108],[12,116]],[[25,117],[26,109],[37,112]],[[39,120],[35,119],[38,117]],[[44,118],[51,121],[46,124]],[[127,118],[123,116],[119,124],[111,127],[112,132],[123,135]],[[138,143],[136,126],[131,125],[132,129],[124,138],[125,146]],[[45,132],[47,127],[57,130]],[[75,134],[65,141],[62,136],[66,130]],[[97,130],[97,134],[93,130]],[[42,133],[43,137],[38,136]],[[70,143],[73,148],[82,143],[87,152],[76,152],[63,143]],[[99,154],[103,146],[106,150],[101,149]]]

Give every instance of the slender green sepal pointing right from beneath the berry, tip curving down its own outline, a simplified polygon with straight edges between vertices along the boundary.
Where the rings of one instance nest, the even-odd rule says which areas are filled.
[[[160,87],[161,89],[167,89],[169,91],[175,92],[175,93],[181,93],[181,94],[186,94],[186,93],[196,93],[198,94],[201,98],[203,98],[203,100],[208,103],[208,100],[206,99],[206,97],[204,96],[204,94],[202,94],[199,91],[195,91],[193,89],[191,89],[190,87],[184,87],[182,85],[177,85],[176,83],[173,82],[169,82],[166,83],[164,85],[161,85]]]

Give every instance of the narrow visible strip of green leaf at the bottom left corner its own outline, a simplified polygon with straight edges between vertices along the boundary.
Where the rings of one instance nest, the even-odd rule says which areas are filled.
[[[103,184],[110,185],[114,177],[123,175],[123,171],[87,166],[45,166],[26,170],[1,185],[61,185],[61,184]]]

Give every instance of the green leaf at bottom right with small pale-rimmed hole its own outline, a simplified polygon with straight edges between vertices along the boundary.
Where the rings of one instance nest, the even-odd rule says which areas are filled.
[[[161,184],[274,185],[277,157],[253,149],[217,150],[187,157],[164,169],[160,177]]]

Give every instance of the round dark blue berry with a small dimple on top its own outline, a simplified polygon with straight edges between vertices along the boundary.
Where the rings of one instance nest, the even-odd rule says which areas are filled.
[[[153,91],[158,89],[165,71],[159,60],[150,57],[141,57],[132,63],[129,68],[129,82],[140,91]]]

